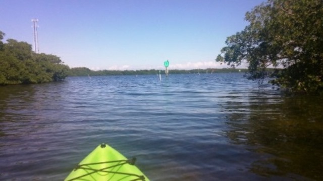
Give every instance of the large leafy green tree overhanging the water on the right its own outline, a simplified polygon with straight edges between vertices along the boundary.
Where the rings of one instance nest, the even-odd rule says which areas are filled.
[[[272,83],[295,92],[323,91],[323,1],[268,0],[246,13],[250,22],[227,38],[216,61],[249,63],[250,78],[281,67]]]

